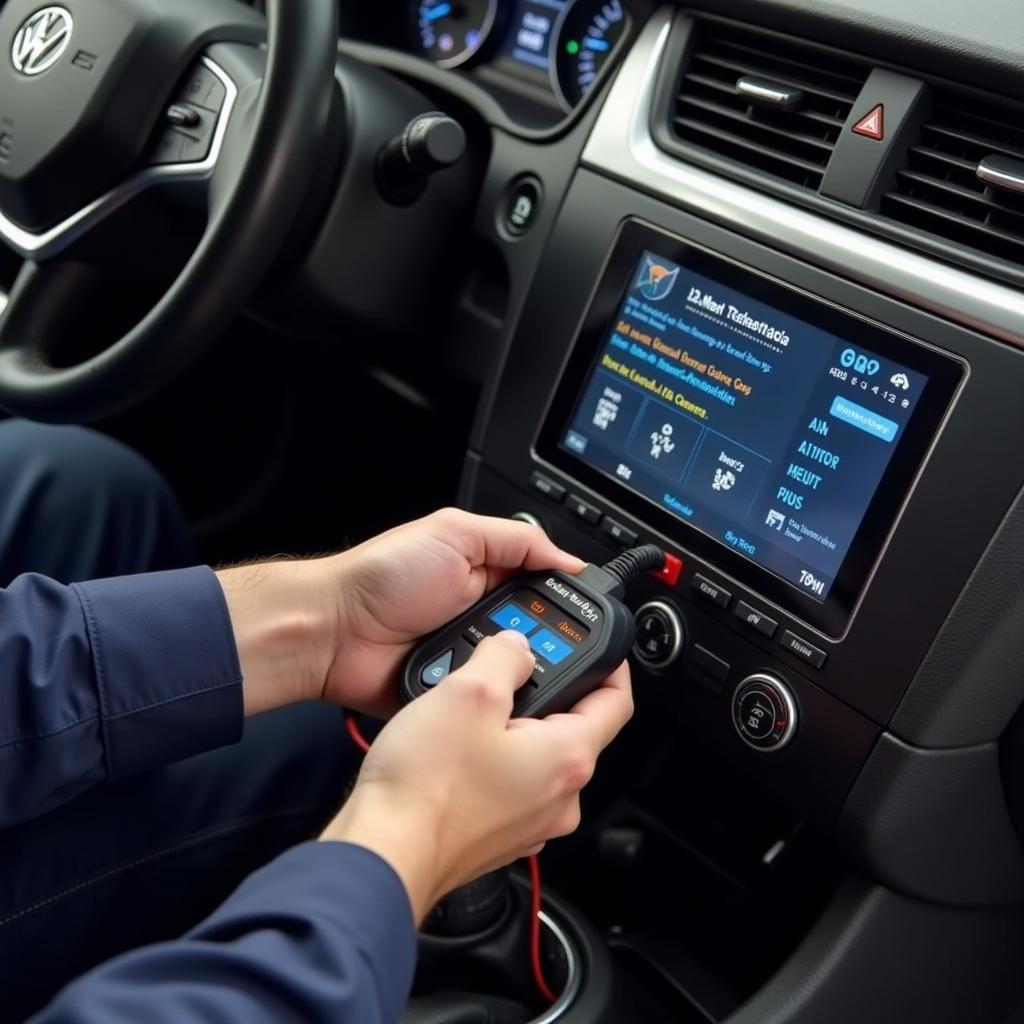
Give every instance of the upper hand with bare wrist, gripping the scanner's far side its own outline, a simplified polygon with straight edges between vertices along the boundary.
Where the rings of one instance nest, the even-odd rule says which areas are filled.
[[[389,715],[419,637],[514,572],[583,565],[537,526],[443,509],[340,555],[224,569],[246,714],[326,698]]]

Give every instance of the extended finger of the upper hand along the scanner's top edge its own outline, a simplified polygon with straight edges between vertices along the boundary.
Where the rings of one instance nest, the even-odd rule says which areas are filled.
[[[470,565],[488,569],[561,569],[579,572],[585,562],[562,551],[540,526],[458,509],[437,513],[444,540],[456,544]]]

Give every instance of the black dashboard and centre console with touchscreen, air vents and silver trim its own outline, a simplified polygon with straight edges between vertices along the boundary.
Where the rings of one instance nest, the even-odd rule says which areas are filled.
[[[459,504],[597,564],[669,556],[629,595],[637,715],[600,839],[555,877],[609,934],[632,921],[645,979],[691,985],[716,935],[716,982],[759,966],[717,1012],[694,985],[699,1015],[651,1020],[994,1022],[975,986],[1019,978],[1022,33],[990,0],[343,8],[343,58],[482,139],[471,214],[449,186],[465,251],[439,204],[412,228],[380,205],[357,256],[387,268],[403,359],[458,382],[438,404],[476,403]],[[369,219],[335,213],[339,237]],[[324,291],[351,248],[324,250]],[[449,262],[422,344],[435,296],[390,282]],[[361,280],[348,305],[382,321]],[[779,851],[806,835],[862,888],[769,980],[805,941],[820,850]],[[725,877],[706,906],[691,878]]]

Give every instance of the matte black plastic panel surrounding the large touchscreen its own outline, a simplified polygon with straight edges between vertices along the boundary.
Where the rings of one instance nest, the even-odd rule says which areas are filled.
[[[846,639],[841,643],[822,640],[827,663],[813,672],[817,685],[877,722],[886,723],[1024,481],[1024,454],[1016,440],[1024,436],[1024,403],[1019,401],[1024,387],[1024,354],[580,172],[536,275],[489,418],[484,413],[481,423],[484,464],[511,481],[525,486],[530,472],[538,468],[529,451],[530,439],[612,240],[624,218],[630,216],[862,311],[957,354],[970,365],[971,377],[958,404]],[[995,465],[998,473],[991,471]],[[573,485],[564,474],[555,475]],[[659,540],[685,555],[691,571],[700,569],[701,560],[679,548],[672,537],[634,519],[603,495],[587,487],[580,487],[580,493],[636,528],[641,537]],[[685,579],[684,586],[688,583]],[[736,596],[764,603],[760,595],[733,584]],[[803,629],[778,610],[783,629]],[[731,612],[713,609],[711,613],[739,634]],[[793,671],[809,671],[798,659],[780,653],[772,641],[755,638],[752,642]]]

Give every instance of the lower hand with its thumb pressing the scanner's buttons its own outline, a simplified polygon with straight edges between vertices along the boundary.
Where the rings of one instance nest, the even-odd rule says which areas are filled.
[[[417,921],[457,886],[580,823],[580,791],[633,714],[629,667],[570,712],[513,719],[534,655],[501,633],[374,741],[324,840],[377,852],[401,878]]]

